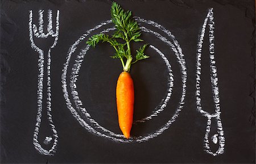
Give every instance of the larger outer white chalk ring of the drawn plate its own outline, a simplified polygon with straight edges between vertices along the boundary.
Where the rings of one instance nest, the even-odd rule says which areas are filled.
[[[75,68],[77,68],[77,69],[75,70],[75,72],[73,71],[73,73],[72,73],[70,86],[73,89],[72,90],[72,95],[73,95],[73,99],[76,102],[76,107],[75,108],[78,107],[81,110],[81,112],[83,112],[85,114],[86,118],[90,121],[90,123],[94,124],[94,128],[91,127],[88,123],[86,123],[86,121],[81,118],[79,113],[77,113],[75,108],[72,106],[72,103],[71,103],[71,101],[69,99],[69,95],[68,95],[68,91],[67,91],[67,69],[68,69],[68,65],[69,65],[69,61],[70,61],[71,55],[72,55],[73,52],[75,52],[76,46],[78,44],[80,44],[81,41],[84,40],[85,37],[90,34],[90,32],[92,32],[92,31],[94,31],[94,30],[96,30],[96,29],[98,29],[98,28],[100,28],[100,27],[102,27],[102,26],[104,26],[106,24],[111,23],[111,20],[103,22],[103,23],[99,24],[98,26],[88,30],[84,35],[82,35],[80,37],[79,40],[77,40],[75,42],[75,44],[73,44],[71,46],[71,48],[69,49],[68,55],[67,55],[67,61],[64,64],[63,74],[61,75],[61,79],[62,79],[62,83],[63,83],[64,98],[66,100],[67,107],[71,111],[72,115],[79,121],[79,123],[82,125],[82,127],[87,129],[89,132],[97,134],[98,136],[110,138],[110,139],[112,139],[114,141],[119,141],[119,142],[133,142],[133,141],[135,141],[135,142],[143,142],[143,141],[148,141],[150,138],[154,138],[156,136],[159,136],[159,134],[162,134],[166,129],[168,129],[170,127],[170,125],[175,121],[176,117],[179,116],[179,112],[183,108],[184,98],[185,98],[185,88],[186,88],[186,81],[187,81],[187,70],[186,70],[186,67],[185,67],[185,60],[183,58],[184,54],[182,53],[180,45],[177,43],[177,41],[175,40],[175,37],[171,34],[171,32],[166,30],[160,24],[157,24],[157,23],[155,23],[155,22],[153,22],[151,20],[144,20],[144,19],[141,19],[141,18],[138,18],[138,17],[136,19],[137,19],[138,22],[147,23],[147,24],[150,24],[151,26],[153,26],[155,28],[159,28],[159,30],[162,30],[164,33],[166,33],[168,36],[171,37],[171,39],[173,40],[174,44],[171,43],[171,41],[167,40],[165,37],[161,36],[159,33],[152,32],[151,30],[148,30],[147,28],[144,28],[144,30],[142,29],[142,31],[144,31],[144,32],[153,33],[154,35],[156,35],[156,37],[158,37],[164,43],[170,45],[172,51],[174,51],[175,54],[176,54],[176,57],[177,57],[177,60],[178,60],[179,64],[181,65],[181,74],[182,74],[181,78],[182,78],[183,85],[182,85],[182,95],[181,95],[181,98],[180,98],[179,106],[177,107],[177,109],[176,109],[174,115],[171,117],[171,119],[168,120],[167,123],[163,127],[158,129],[154,133],[147,134],[146,136],[139,136],[139,137],[136,137],[136,138],[132,138],[132,139],[126,140],[126,139],[124,139],[123,135],[115,134],[115,133],[109,131],[108,129],[105,129],[105,128],[101,127],[100,125],[98,125],[98,123],[96,121],[94,121],[90,117],[89,113],[86,112],[85,108],[81,108],[80,107],[80,105],[82,105],[82,102],[79,99],[78,92],[75,90],[76,89],[76,83],[75,82],[77,80],[77,76],[78,76],[78,73],[79,73],[79,69],[81,67],[81,63],[80,64],[77,63],[77,64],[74,65]],[[85,49],[83,49],[80,52],[80,56],[77,56],[77,61],[79,61],[79,60],[82,61],[83,60],[84,54],[86,53],[86,51],[88,51],[88,49],[89,49],[89,47],[86,47]],[[95,127],[95,125],[96,125],[96,127]],[[100,131],[97,131],[96,128],[99,129],[100,131],[103,131],[104,133],[108,133],[108,134],[101,133]]]

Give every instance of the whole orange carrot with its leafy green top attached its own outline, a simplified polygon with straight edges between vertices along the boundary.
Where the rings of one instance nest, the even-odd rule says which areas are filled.
[[[112,22],[117,30],[111,37],[106,33],[93,35],[86,41],[86,44],[95,47],[99,41],[107,42],[115,49],[114,56],[110,57],[121,60],[123,72],[119,75],[116,88],[118,123],[123,135],[129,138],[133,125],[134,110],[134,86],[129,71],[131,64],[149,56],[144,55],[147,47],[147,44],[144,44],[136,51],[137,54],[134,56],[135,59],[133,59],[130,47],[131,41],[138,42],[143,40],[139,39],[141,31],[138,23],[133,20],[131,11],[124,11],[121,6],[113,2],[110,12]],[[122,43],[119,43],[117,39],[122,39]]]

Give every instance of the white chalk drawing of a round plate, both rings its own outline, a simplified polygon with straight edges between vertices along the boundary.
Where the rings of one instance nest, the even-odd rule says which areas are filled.
[[[174,35],[172,35],[172,33],[170,31],[166,30],[166,28],[164,28],[162,25],[160,25],[156,22],[153,22],[152,20],[144,20],[139,17],[134,17],[134,18],[139,23],[147,24],[147,26],[150,26],[152,28],[158,28],[158,30],[160,30],[161,32],[163,32],[165,35],[168,36],[168,39],[170,39],[170,40],[168,40],[166,37],[160,35],[160,33],[150,30],[149,28],[146,28],[143,26],[140,27],[142,32],[151,33],[156,38],[158,38],[160,41],[162,41],[164,44],[168,45],[168,47],[170,47],[170,50],[175,53],[177,62],[180,65],[182,90],[181,90],[181,97],[179,100],[179,105],[177,106],[177,108],[176,108],[174,114],[171,116],[171,118],[162,127],[160,127],[159,129],[156,129],[155,132],[146,134],[144,136],[131,137],[131,138],[129,138],[129,140],[127,140],[122,134],[114,133],[114,132],[110,131],[109,129],[102,127],[100,124],[97,123],[96,120],[94,120],[92,118],[90,113],[88,113],[86,108],[84,108],[84,105],[79,98],[79,92],[77,91],[77,87],[76,87],[76,82],[77,82],[77,78],[79,77],[79,71],[81,68],[82,61],[84,61],[84,57],[90,49],[90,47],[88,45],[85,48],[81,49],[79,54],[77,54],[77,56],[76,56],[75,64],[72,65],[72,69],[71,69],[71,77],[70,77],[70,81],[69,81],[70,91],[68,89],[67,72],[68,72],[68,68],[70,67],[69,64],[71,62],[72,54],[74,54],[77,47],[79,47],[79,45],[81,43],[85,44],[86,38],[88,39],[88,35],[90,35],[90,33],[92,33],[95,30],[98,30],[99,28],[106,27],[106,25],[112,23],[111,20],[102,22],[98,26],[86,31],[86,33],[84,33],[84,35],[82,35],[69,48],[69,52],[68,52],[67,58],[66,58],[67,61],[64,64],[63,73],[61,75],[63,93],[64,93],[64,98],[65,98],[67,107],[68,107],[69,111],[72,113],[72,115],[76,118],[76,120],[79,121],[80,125],[82,127],[84,127],[88,132],[94,133],[97,136],[109,138],[109,139],[111,139],[113,141],[117,141],[117,142],[143,142],[143,141],[148,141],[151,138],[157,137],[160,134],[162,134],[164,131],[166,131],[166,129],[168,129],[170,127],[170,125],[172,123],[174,123],[175,119],[179,116],[179,112],[183,108],[185,92],[186,92],[187,68],[185,66],[184,54],[182,53],[181,47],[180,47],[178,41],[175,39]],[[106,32],[113,31],[113,30],[115,30],[115,28],[105,28],[101,32],[106,33]],[[144,123],[147,120],[151,120],[153,117],[158,116],[158,113],[164,111],[164,108],[166,108],[167,103],[171,98],[172,87],[174,86],[174,75],[172,74],[170,62],[168,61],[166,56],[164,56],[164,54],[158,48],[156,48],[154,45],[150,45],[149,48],[151,48],[152,51],[155,51],[156,53],[158,53],[159,56],[164,61],[164,63],[166,64],[166,68],[168,70],[168,89],[167,89],[166,95],[164,96],[162,101],[159,103],[159,105],[157,107],[155,107],[155,109],[152,111],[152,113],[150,115],[144,117],[141,120],[136,120],[135,122],[137,122],[137,123],[140,123],[140,122]],[[72,98],[73,103],[71,102],[71,99],[69,99],[69,97]]]

